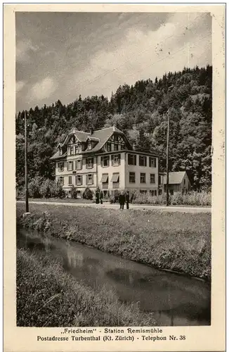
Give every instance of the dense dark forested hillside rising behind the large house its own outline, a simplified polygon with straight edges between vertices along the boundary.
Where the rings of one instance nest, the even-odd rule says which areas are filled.
[[[72,127],[89,132],[116,125],[136,150],[159,154],[166,168],[167,114],[170,114],[169,170],[188,170],[194,189],[211,187],[212,67],[184,68],[162,78],[120,86],[111,99],[91,96],[63,105],[30,108],[28,116],[29,179],[53,179],[55,148]],[[24,112],[16,115],[17,186],[24,186]]]

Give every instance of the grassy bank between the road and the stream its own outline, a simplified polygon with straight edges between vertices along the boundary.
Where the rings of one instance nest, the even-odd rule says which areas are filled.
[[[156,268],[211,278],[211,214],[31,204],[18,225],[78,241]]]

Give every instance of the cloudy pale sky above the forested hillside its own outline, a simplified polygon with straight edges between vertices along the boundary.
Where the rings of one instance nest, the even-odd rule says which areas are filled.
[[[16,13],[16,110],[211,65],[209,13]]]

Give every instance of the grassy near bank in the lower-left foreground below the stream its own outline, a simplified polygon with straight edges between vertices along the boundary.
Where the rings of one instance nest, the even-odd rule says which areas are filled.
[[[120,303],[113,291],[77,282],[48,256],[17,251],[17,325],[89,327],[155,325],[137,304]]]

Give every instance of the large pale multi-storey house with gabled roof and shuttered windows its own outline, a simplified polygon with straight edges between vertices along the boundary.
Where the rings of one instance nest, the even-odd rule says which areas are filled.
[[[72,129],[51,160],[56,180],[65,191],[74,185],[79,196],[86,187],[93,191],[99,187],[104,195],[124,189],[158,192],[158,156],[134,151],[114,126],[91,133]]]

